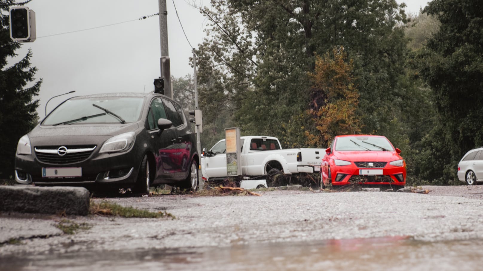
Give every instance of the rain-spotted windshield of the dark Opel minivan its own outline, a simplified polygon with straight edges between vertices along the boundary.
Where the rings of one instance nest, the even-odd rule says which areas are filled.
[[[143,101],[143,97],[73,98],[54,109],[42,125],[136,122]]]

